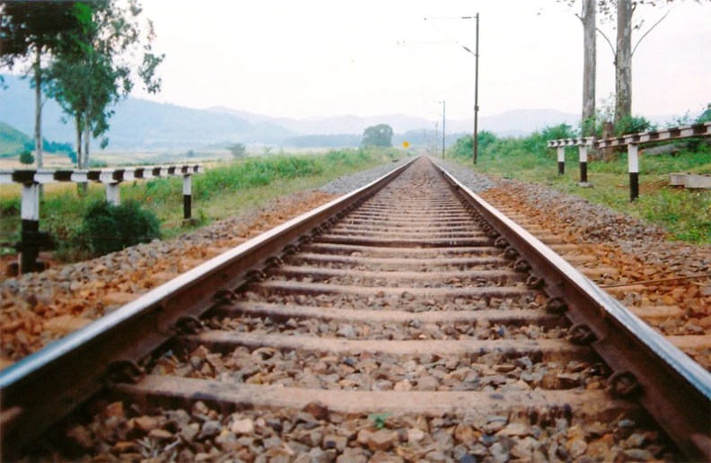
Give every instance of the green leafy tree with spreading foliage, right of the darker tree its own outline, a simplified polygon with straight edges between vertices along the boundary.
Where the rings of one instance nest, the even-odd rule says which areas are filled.
[[[99,137],[109,129],[109,118],[114,114],[111,107],[127,97],[136,76],[147,92],[160,91],[161,79],[155,70],[164,55],[152,52],[153,22],[139,22],[141,12],[137,0],[75,4],[73,14],[79,28],[61,43],[50,68],[53,81],[49,91],[75,119],[80,167],[91,165],[92,135]],[[140,66],[132,62],[136,52],[143,53]],[[108,139],[103,139],[101,148],[106,144]]]

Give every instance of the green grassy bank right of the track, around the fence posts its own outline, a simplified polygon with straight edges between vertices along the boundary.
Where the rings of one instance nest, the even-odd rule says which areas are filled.
[[[523,138],[496,139],[485,147],[479,144],[478,162],[471,163],[469,148],[448,152],[449,161],[495,177],[516,179],[555,188],[567,194],[607,205],[647,223],[663,226],[671,240],[711,244],[711,190],[669,187],[671,172],[711,172],[711,148],[698,144],[693,151],[676,155],[640,156],[640,197],[629,201],[627,153],[612,162],[589,161],[588,181],[592,188],[580,188],[577,148],[566,148],[566,173],[557,175],[557,152],[546,149],[543,133]],[[644,145],[642,147],[644,149]],[[469,150],[469,151],[467,151]]]

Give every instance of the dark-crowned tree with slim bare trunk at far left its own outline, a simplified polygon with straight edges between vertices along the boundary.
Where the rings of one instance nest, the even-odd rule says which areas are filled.
[[[35,89],[35,152],[42,167],[43,55],[52,55],[66,33],[78,27],[71,2],[0,2],[0,57],[10,68],[33,54]]]

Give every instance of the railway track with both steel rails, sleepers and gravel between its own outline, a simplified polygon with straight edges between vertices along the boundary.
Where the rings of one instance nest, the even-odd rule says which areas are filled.
[[[4,456],[709,458],[707,371],[428,160],[386,177],[0,373]]]

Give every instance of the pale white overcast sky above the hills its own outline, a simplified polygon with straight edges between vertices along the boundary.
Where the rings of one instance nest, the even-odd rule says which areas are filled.
[[[579,3],[579,2],[578,2]],[[711,102],[711,2],[675,2],[633,60],[633,112],[683,114]],[[154,21],[162,92],[151,100],[269,116],[404,113],[471,118],[480,13],[479,107],[579,113],[583,28],[556,0],[144,0]],[[636,12],[642,32],[665,8]],[[430,18],[424,21],[424,18]],[[600,21],[600,17],[598,18]],[[601,24],[614,42],[610,25]],[[597,98],[614,91],[598,35]],[[136,96],[145,97],[141,92]]]

